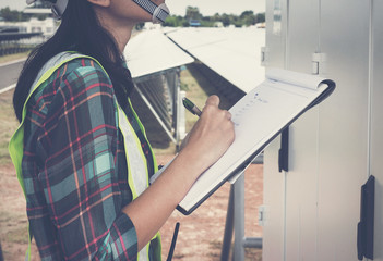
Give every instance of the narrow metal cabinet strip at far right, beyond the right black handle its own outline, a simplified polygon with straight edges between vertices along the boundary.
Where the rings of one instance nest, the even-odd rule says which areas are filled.
[[[371,0],[372,1],[372,0]],[[372,8],[371,174],[375,176],[374,260],[383,261],[383,1]]]

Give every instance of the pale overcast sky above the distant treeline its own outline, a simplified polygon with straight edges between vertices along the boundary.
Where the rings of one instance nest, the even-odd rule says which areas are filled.
[[[129,1],[129,0],[127,0]],[[196,7],[200,12],[206,15],[215,13],[241,14],[243,11],[252,10],[254,13],[265,11],[266,0],[166,0],[171,13],[184,15],[187,7]],[[26,7],[25,0],[0,0],[0,9],[23,10]]]

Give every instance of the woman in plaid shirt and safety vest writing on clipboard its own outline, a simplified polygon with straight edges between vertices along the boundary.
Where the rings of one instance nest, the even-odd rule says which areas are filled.
[[[10,151],[43,260],[159,260],[157,232],[234,140],[230,113],[210,97],[183,149],[146,188],[156,162],[122,59],[135,24],[153,20],[140,1],[55,1],[61,25],[20,76],[22,125]]]

